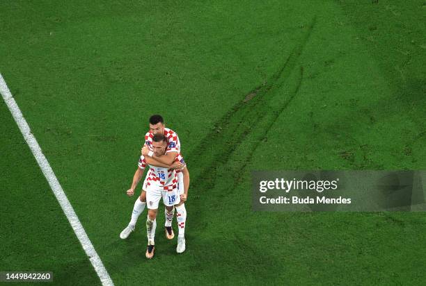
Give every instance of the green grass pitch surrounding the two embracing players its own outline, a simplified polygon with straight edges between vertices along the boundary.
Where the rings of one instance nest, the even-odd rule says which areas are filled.
[[[0,72],[117,285],[164,284],[171,265],[184,284],[426,278],[423,214],[251,212],[248,180],[252,169],[425,169],[423,1],[2,6]],[[75,285],[75,273],[96,282],[1,104],[1,225],[9,230],[1,244],[13,258],[0,270],[44,267],[58,285]],[[145,213],[128,240],[118,234],[155,112],[180,135],[191,187],[186,253],[166,242],[160,212],[156,257],[147,261]],[[19,166],[21,158],[32,165]],[[38,203],[22,205],[22,174],[37,182]],[[12,188],[21,199],[8,195]],[[34,213],[57,239],[43,238]],[[11,238],[16,224],[37,248]],[[58,263],[52,256],[64,244]],[[40,249],[48,253],[36,258]]]

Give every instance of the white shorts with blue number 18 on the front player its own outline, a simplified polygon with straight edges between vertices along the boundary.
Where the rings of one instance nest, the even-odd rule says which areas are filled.
[[[157,210],[161,198],[163,198],[164,205],[168,207],[180,203],[178,189],[164,190],[163,186],[157,186],[151,183],[151,185],[147,187],[144,185],[143,190],[146,191],[146,206],[150,210]]]

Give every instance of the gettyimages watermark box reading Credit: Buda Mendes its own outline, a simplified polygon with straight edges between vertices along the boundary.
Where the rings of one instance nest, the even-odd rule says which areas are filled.
[[[426,211],[426,171],[253,171],[253,210]]]

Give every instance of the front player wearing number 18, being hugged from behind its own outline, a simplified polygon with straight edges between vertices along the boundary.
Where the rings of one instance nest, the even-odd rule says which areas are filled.
[[[156,134],[152,137],[152,149],[155,155],[161,155],[166,152],[166,137],[162,134]],[[175,162],[184,163],[182,155],[178,154],[175,158]],[[139,183],[142,178],[143,170],[145,169],[147,162],[145,157],[141,155],[138,163],[138,169],[134,174],[132,190]],[[182,169],[183,180],[184,180],[184,193],[178,193],[178,178],[175,169],[169,169],[164,167],[150,166],[148,171],[147,183],[143,185],[143,189],[146,192],[146,200],[148,201],[148,218],[146,221],[146,230],[148,237],[148,247],[146,249],[146,258],[152,258],[155,252],[155,229],[157,227],[157,210],[159,200],[162,198],[163,203],[166,206],[166,210],[171,211],[173,206],[176,206],[178,212],[178,246],[176,251],[182,253],[185,251],[185,237],[184,237],[184,225],[187,219],[186,212],[182,212],[182,205],[187,200],[188,188],[189,188],[189,171],[187,167]],[[132,214],[133,216],[133,214]]]

